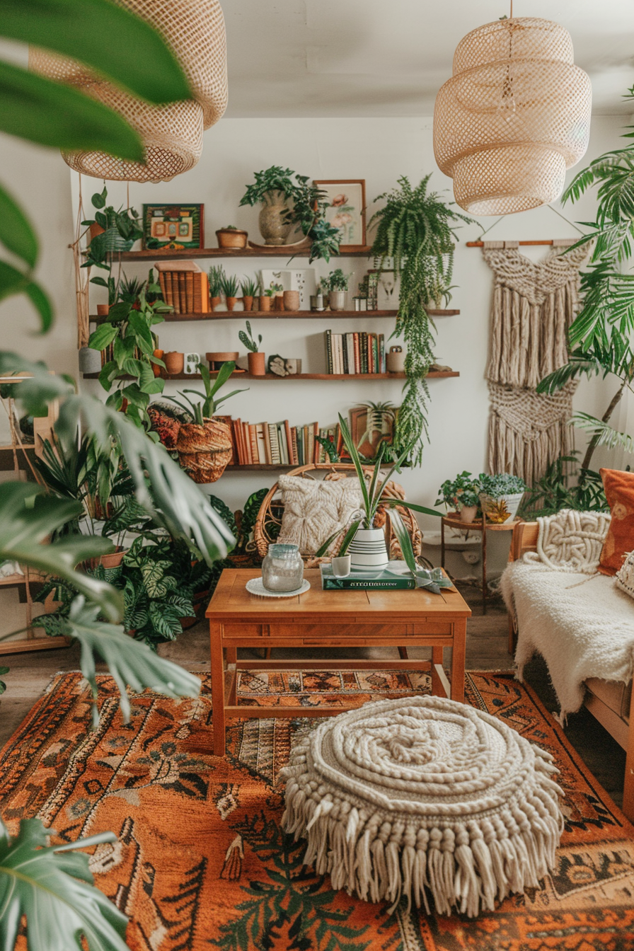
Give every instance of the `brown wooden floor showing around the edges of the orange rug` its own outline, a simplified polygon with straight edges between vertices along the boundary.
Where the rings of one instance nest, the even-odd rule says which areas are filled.
[[[501,600],[494,599],[490,602],[487,614],[483,615],[478,589],[470,585],[461,585],[460,590],[473,611],[471,620],[467,624],[467,670],[512,670],[512,658],[507,650],[507,612]],[[195,672],[209,670],[209,642],[206,625],[199,624],[189,631],[184,631],[178,641],[162,645],[159,652],[187,670]],[[377,649],[371,650],[370,656],[373,652],[375,656],[381,656]],[[425,655],[425,649],[418,649],[418,652],[420,656]],[[344,654],[343,651],[339,653]],[[351,651],[345,651],[345,653],[350,654]],[[311,649],[311,655],[316,656],[316,651]],[[336,655],[334,650],[323,652],[324,657]],[[368,651],[366,650],[363,655],[368,656]],[[412,649],[412,655],[416,656],[416,649]],[[248,657],[249,652],[243,651],[243,656]],[[282,657],[283,654],[279,650],[274,650],[273,656]],[[286,656],[290,659],[291,654],[287,653]],[[300,657],[301,652],[294,651],[293,656]],[[0,658],[0,661],[10,668],[10,672],[2,677],[7,684],[7,691],[0,700],[0,745],[4,745],[42,694],[53,674],[58,670],[79,670],[79,648],[75,645],[62,650],[6,654]],[[448,662],[449,656],[446,651],[446,667]],[[388,665],[389,661],[386,661],[386,666]],[[549,710],[557,709],[554,691],[548,679],[548,670],[541,658],[533,659],[528,665],[526,680],[536,689]],[[590,771],[614,801],[621,805],[624,750],[587,712],[586,708],[568,717],[566,734]]]

